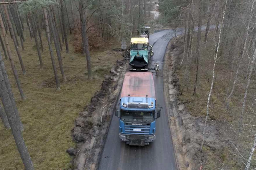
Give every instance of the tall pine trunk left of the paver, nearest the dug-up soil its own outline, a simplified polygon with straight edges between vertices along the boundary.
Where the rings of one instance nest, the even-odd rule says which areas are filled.
[[[89,51],[89,43],[88,43],[88,36],[86,30],[86,22],[85,22],[85,13],[84,13],[84,6],[83,2],[79,1],[79,9],[80,9],[80,15],[81,15],[81,22],[82,24],[82,33],[84,35],[84,50],[86,55],[86,62],[87,62],[87,74],[88,74],[88,80],[92,80],[92,68],[91,68],[91,56]]]

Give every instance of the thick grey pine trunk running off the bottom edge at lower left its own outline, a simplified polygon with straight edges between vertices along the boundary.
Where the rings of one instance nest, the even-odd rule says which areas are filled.
[[[2,25],[2,26],[4,26],[4,25]],[[10,123],[12,135],[14,137],[16,146],[20,153],[20,157],[22,159],[23,165],[25,166],[26,170],[34,170],[34,166],[33,166],[31,157],[28,153],[28,148],[26,147],[24,139],[22,137],[22,133],[19,130],[19,121],[16,118],[16,115],[14,112],[14,107],[12,105],[12,102],[11,102],[9,94],[8,94],[8,90],[4,83],[4,77],[2,74],[2,70],[0,71],[0,97],[1,97],[1,100],[2,100],[2,103],[4,106],[6,116]]]

